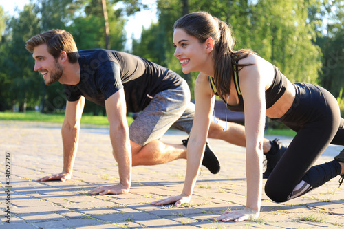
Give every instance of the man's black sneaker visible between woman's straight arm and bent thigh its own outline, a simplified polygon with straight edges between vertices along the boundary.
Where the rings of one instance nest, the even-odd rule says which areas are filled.
[[[286,149],[287,146],[279,142],[278,138],[275,138],[275,140],[271,142],[270,151],[268,153],[264,153],[266,156],[266,160],[264,160],[264,162],[266,162],[266,171],[263,173],[264,179],[268,179],[272,170],[275,168],[277,162],[279,162]]]

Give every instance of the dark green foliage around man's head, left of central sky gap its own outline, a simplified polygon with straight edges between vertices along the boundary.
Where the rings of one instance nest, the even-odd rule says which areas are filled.
[[[123,50],[125,19],[122,10],[114,9],[116,3],[107,1],[109,43],[112,49]],[[72,33],[79,50],[104,48],[104,25],[100,0],[35,0],[24,6],[18,17],[10,18],[0,8],[0,111],[12,109],[12,105],[19,105],[21,111],[36,105],[45,113],[61,111],[65,107],[63,85],[44,85],[41,74],[33,70],[34,59],[25,50],[25,42],[43,31],[59,28]],[[104,113],[93,104],[85,110]]]

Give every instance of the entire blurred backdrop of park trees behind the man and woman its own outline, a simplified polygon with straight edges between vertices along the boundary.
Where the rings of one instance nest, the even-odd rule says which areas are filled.
[[[142,10],[151,11],[155,20],[128,42],[128,18]],[[63,85],[46,87],[25,50],[31,36],[55,28],[71,32],[78,50],[125,51],[169,67],[186,79],[193,94],[197,73],[183,74],[173,56],[173,23],[199,10],[232,26],[237,50],[251,48],[292,82],[331,91],[344,115],[342,0],[30,0],[15,14],[0,6],[0,119],[64,113]],[[103,107],[90,102],[84,112],[105,116]]]

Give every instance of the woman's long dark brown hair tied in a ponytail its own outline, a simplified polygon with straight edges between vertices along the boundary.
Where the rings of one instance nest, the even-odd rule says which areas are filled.
[[[211,16],[208,12],[186,14],[175,21],[173,27],[174,29],[181,28],[187,34],[195,36],[200,43],[204,43],[210,37],[213,39],[215,47],[213,54],[214,83],[220,97],[228,96],[230,94],[230,77],[233,72],[230,63],[240,67],[247,66],[239,65],[235,61],[246,58],[254,52],[252,50],[234,51],[235,41],[229,25]]]

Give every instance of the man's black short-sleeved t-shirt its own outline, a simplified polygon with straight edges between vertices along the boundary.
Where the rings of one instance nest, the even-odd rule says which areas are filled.
[[[142,111],[151,98],[166,89],[175,89],[182,78],[160,65],[125,52],[80,50],[80,82],[64,85],[67,100],[84,96],[98,105],[124,88],[128,112]]]

